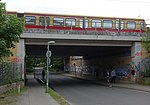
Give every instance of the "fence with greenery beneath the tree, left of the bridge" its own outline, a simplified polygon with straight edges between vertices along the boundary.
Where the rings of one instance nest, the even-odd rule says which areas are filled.
[[[22,64],[0,62],[0,85],[5,85],[22,79]]]

